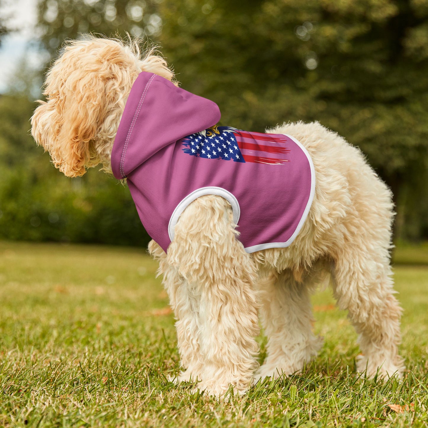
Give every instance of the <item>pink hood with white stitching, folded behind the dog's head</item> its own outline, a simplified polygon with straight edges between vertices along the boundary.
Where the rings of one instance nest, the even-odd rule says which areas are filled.
[[[220,110],[213,101],[142,71],[132,86],[114,140],[113,175],[125,178],[166,146],[219,120]]]

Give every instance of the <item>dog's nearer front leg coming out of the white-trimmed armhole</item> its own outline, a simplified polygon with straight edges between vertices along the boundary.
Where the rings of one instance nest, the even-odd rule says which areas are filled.
[[[202,196],[181,215],[167,255],[183,284],[175,300],[190,309],[178,335],[197,354],[199,390],[216,397],[231,385],[244,393],[258,366],[256,267],[235,235],[228,202]]]

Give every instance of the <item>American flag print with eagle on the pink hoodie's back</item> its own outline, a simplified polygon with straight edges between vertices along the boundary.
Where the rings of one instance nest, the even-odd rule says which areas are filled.
[[[281,134],[213,126],[184,137],[181,143],[184,153],[197,158],[282,165],[289,162],[287,141],[287,137]]]

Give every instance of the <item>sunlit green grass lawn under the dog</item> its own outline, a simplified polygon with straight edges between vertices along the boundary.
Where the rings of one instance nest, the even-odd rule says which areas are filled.
[[[428,267],[394,269],[404,381],[355,374],[356,334],[324,291],[318,358],[228,403],[168,381],[178,354],[156,268],[138,249],[0,242],[0,426],[428,426]]]

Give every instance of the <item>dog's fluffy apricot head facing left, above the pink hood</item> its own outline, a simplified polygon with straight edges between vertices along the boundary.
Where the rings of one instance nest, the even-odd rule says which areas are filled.
[[[114,137],[140,71],[173,78],[154,51],[141,55],[136,41],[92,36],[66,43],[46,76],[46,101],[39,101],[31,118],[34,139],[65,175],[83,175],[100,163],[111,170]]]

